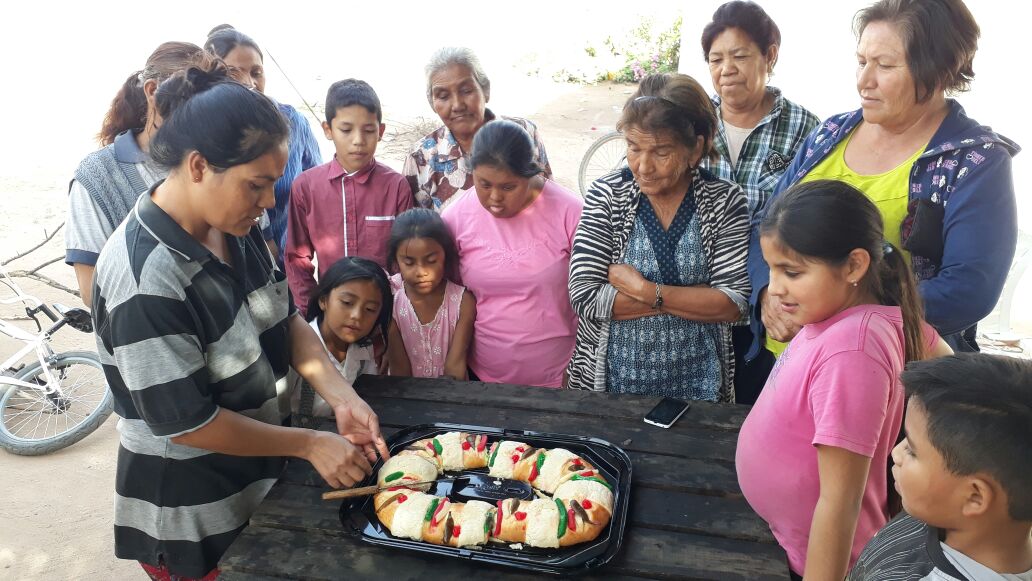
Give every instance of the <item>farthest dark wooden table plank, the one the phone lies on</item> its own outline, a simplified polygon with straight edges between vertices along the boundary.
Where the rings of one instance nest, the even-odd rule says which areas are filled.
[[[361,376],[355,383],[355,389],[362,397],[414,399],[428,405],[447,401],[492,409],[560,412],[592,419],[638,421],[660,399],[648,395],[385,376]],[[748,412],[746,406],[692,401],[691,409],[680,421],[697,427],[737,431]]]

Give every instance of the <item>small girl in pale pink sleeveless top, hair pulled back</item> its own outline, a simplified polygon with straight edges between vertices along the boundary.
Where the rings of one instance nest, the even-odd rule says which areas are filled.
[[[458,252],[448,226],[432,209],[405,212],[391,227],[388,260],[398,270],[391,278],[397,291],[387,342],[390,374],[467,379],[477,303],[449,280],[458,272]]]

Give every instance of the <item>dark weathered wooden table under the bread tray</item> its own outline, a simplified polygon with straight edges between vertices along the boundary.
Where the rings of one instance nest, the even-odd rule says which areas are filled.
[[[747,408],[696,401],[664,429],[642,421],[657,397],[377,376],[362,376],[356,389],[387,438],[447,422],[588,435],[621,447],[634,471],[623,546],[584,579],[788,579],[784,552],[738,488],[735,445]],[[321,499],[326,490],[309,462],[288,462],[220,561],[220,579],[541,576],[364,543],[341,524],[340,502]]]

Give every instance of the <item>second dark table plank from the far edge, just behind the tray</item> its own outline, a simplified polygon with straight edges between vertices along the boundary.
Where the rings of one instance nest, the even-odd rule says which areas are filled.
[[[679,422],[673,428],[664,429],[640,420],[610,418],[602,422],[561,413],[498,410],[445,402],[428,406],[422,401],[378,396],[367,396],[365,400],[377,412],[380,423],[389,426],[456,423],[571,433],[601,438],[628,452],[668,454],[729,464],[735,459],[735,446],[738,440],[738,435],[734,432],[690,427],[687,422]]]

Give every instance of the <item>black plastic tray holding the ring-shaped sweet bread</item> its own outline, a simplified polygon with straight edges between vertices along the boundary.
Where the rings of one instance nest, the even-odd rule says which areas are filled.
[[[579,454],[591,462],[608,482],[613,484],[613,517],[606,529],[590,543],[581,543],[570,547],[546,549],[524,546],[522,549],[510,548],[508,544],[487,543],[480,547],[447,547],[433,545],[409,539],[392,537],[376,516],[373,497],[365,496],[345,501],[341,505],[341,523],[354,535],[367,543],[384,547],[395,547],[420,553],[445,555],[465,558],[474,561],[499,564],[524,571],[535,571],[554,575],[571,575],[585,573],[609,562],[620,550],[623,540],[623,529],[626,525],[627,506],[631,504],[631,458],[623,450],[594,438],[544,433],[540,431],[524,431],[517,429],[499,429],[495,427],[473,426],[461,424],[421,424],[408,427],[392,434],[387,445],[391,454],[400,451],[406,446],[448,431],[465,431],[483,433],[488,437],[488,446],[498,440],[516,440],[535,448],[566,448]],[[373,476],[356,486],[376,484],[376,475],[383,460],[373,466]],[[533,498],[535,494],[529,485],[514,480],[498,480],[487,476],[487,469],[449,472],[447,476],[469,476],[470,483],[451,482],[436,484],[429,493],[448,496],[456,502],[483,499],[493,505],[496,499],[520,497]]]

